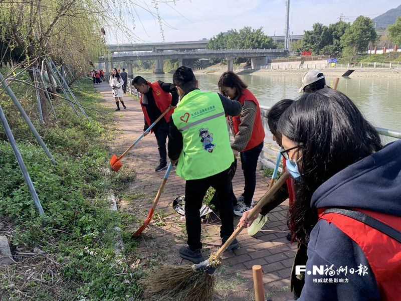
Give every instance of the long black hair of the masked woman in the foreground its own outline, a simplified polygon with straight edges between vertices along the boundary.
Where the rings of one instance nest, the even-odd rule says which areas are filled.
[[[302,177],[288,224],[293,238],[305,243],[317,222],[317,213],[310,208],[315,190],[383,146],[355,104],[333,89],[302,95],[280,117],[277,130],[300,145]]]

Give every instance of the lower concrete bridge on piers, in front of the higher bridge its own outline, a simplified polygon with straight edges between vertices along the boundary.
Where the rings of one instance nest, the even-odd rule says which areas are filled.
[[[178,59],[178,66],[183,65],[183,59],[211,59],[226,58],[227,70],[233,71],[234,58],[251,58],[252,69],[268,64],[272,59],[287,55],[285,49],[217,49],[217,50],[184,50],[184,51],[149,51],[149,52],[122,52],[112,53],[108,56],[99,58],[98,68],[109,70],[109,62],[113,68],[113,62],[127,62],[128,74],[133,74],[132,61],[135,60],[155,60],[155,73],[162,74],[163,59]],[[102,64],[105,64],[103,68]]]

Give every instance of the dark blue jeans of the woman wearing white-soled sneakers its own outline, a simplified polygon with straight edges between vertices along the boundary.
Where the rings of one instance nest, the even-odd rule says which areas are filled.
[[[245,205],[251,205],[252,198],[255,193],[256,187],[256,167],[258,166],[259,155],[262,152],[263,142],[259,145],[245,150],[240,153],[241,156],[241,168],[244,172],[245,187],[244,193],[244,203]]]

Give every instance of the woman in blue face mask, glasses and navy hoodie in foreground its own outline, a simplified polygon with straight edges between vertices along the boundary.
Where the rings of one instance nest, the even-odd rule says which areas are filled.
[[[401,140],[382,146],[341,92],[305,94],[281,116],[297,181],[293,235],[307,244],[299,300],[397,300],[401,292]]]

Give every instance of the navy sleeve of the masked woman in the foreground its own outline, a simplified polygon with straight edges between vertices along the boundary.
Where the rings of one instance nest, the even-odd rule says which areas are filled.
[[[380,299],[373,271],[362,249],[333,223],[320,220],[316,224],[307,254],[305,284],[299,301]],[[359,265],[367,267],[366,274],[357,272]],[[323,267],[323,275],[313,272],[314,267]]]

